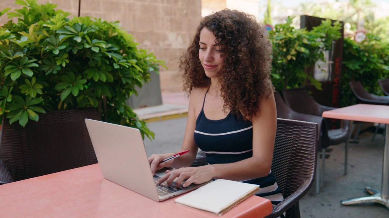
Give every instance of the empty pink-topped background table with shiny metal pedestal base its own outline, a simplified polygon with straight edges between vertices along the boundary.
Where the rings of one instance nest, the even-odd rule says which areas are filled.
[[[389,106],[356,104],[331,111],[324,111],[322,117],[371,123],[385,123],[386,132],[381,192],[371,189],[370,187],[366,187],[366,192],[370,193],[372,196],[350,198],[341,202],[343,205],[375,202],[384,204],[387,208],[389,208]]]

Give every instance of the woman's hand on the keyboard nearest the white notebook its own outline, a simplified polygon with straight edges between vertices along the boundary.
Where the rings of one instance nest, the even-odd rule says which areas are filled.
[[[197,166],[197,167],[183,167],[174,171],[166,170],[166,175],[162,176],[159,179],[157,185],[166,181],[167,185],[170,187],[172,185],[173,180],[175,180],[175,178],[177,178],[176,180],[177,187],[184,180],[186,181],[182,184],[183,187],[187,187],[191,183],[201,184],[204,182],[208,182],[213,178],[211,171],[212,170],[210,165]]]

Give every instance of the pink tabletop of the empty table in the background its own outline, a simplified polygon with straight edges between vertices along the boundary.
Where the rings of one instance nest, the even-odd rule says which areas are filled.
[[[322,117],[389,124],[389,106],[356,104],[331,111],[324,111]]]

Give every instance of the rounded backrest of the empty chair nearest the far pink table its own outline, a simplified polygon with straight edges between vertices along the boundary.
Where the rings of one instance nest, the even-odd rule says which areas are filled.
[[[321,116],[319,105],[305,88],[282,90],[286,104],[293,110],[303,114]]]

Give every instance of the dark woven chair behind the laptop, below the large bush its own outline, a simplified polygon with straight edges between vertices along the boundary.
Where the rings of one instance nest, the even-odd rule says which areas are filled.
[[[9,125],[0,135],[0,183],[97,163],[85,118],[100,120],[96,109],[75,109],[39,115],[39,122]]]

